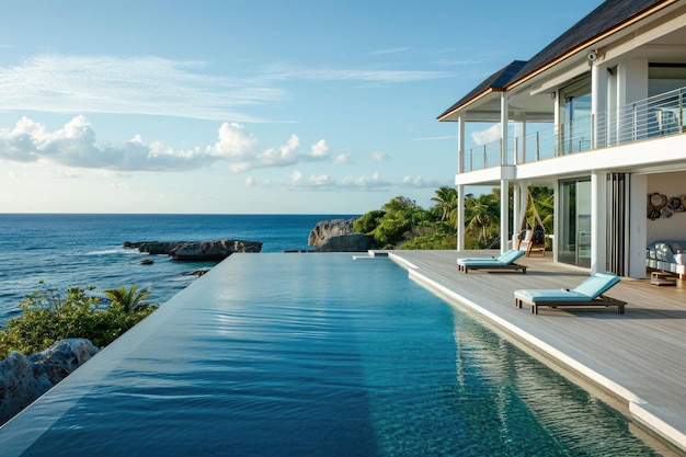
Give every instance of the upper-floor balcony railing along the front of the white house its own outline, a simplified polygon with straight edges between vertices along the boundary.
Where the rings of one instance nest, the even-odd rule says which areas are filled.
[[[465,151],[462,171],[530,163],[592,149],[625,145],[686,132],[686,88],[652,96],[628,106],[512,138],[503,152],[502,140]]]

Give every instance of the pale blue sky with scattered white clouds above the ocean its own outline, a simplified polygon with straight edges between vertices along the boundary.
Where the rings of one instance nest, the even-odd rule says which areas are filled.
[[[9,2],[0,213],[428,208],[457,171],[436,116],[599,3]]]

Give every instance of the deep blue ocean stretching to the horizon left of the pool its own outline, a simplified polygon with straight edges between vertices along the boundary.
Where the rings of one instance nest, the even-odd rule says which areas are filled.
[[[162,304],[191,284],[191,273],[216,262],[150,259],[125,241],[262,242],[262,252],[309,250],[310,230],[320,220],[355,215],[95,215],[0,214],[0,324],[21,311],[19,302],[42,287],[94,286],[150,288],[150,302]]]

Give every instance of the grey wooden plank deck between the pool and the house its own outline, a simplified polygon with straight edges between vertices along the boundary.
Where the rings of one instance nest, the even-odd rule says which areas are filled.
[[[410,277],[483,318],[495,330],[581,375],[619,400],[620,409],[648,430],[686,452],[686,281],[655,286],[622,278],[606,295],[626,300],[616,309],[517,309],[521,288],[573,288],[585,269],[553,263],[550,255],[517,260],[521,272],[458,272],[457,259],[498,251],[389,251]],[[624,404],[624,407],[622,407]],[[616,405],[616,404],[615,404]]]

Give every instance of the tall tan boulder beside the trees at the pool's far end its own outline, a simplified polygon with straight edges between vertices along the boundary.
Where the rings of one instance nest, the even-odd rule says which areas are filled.
[[[308,245],[317,248],[316,252],[366,252],[373,249],[368,237],[353,233],[355,219],[320,220],[310,231]]]

